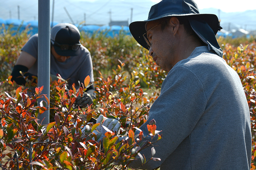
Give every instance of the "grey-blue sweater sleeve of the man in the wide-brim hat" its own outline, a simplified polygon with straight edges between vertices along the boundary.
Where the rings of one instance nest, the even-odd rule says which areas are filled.
[[[147,125],[150,120],[155,119],[156,130],[162,130],[162,139],[154,146],[155,158],[161,161],[150,160],[141,167],[141,160],[138,158],[132,161],[129,166],[140,169],[154,169],[159,167],[165,159],[190,135],[207,103],[204,88],[198,77],[188,68],[175,66],[165,78],[161,95],[156,99],[149,111],[149,117],[140,129],[144,136],[148,134]],[[136,130],[135,135],[139,134]],[[157,135],[153,141],[157,139]],[[147,137],[146,140],[151,140]],[[148,147],[140,153],[146,161],[151,158],[151,148]]]

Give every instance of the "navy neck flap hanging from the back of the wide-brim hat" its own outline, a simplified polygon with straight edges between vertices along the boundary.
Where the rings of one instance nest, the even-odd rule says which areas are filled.
[[[208,45],[208,50],[216,53],[222,58],[223,51],[216,40],[215,34],[211,27],[205,21],[197,21],[189,19],[190,25],[193,31],[199,36],[199,38]]]

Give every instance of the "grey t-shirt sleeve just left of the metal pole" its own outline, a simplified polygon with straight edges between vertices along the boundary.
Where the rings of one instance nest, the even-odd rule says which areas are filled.
[[[21,48],[21,51],[25,51],[37,59],[38,56],[38,34],[35,34],[29,38],[27,43]]]

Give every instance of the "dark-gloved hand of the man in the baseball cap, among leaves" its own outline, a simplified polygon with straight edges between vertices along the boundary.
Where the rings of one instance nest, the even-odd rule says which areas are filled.
[[[96,94],[93,89],[88,90],[81,97],[80,95],[76,98],[75,104],[79,106],[86,107],[87,105],[91,105],[93,103],[93,99],[96,98]]]

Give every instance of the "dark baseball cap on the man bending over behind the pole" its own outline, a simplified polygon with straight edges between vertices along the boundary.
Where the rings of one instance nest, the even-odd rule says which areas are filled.
[[[61,56],[75,56],[81,52],[80,32],[70,23],[60,23],[51,30],[51,43],[54,50]]]

